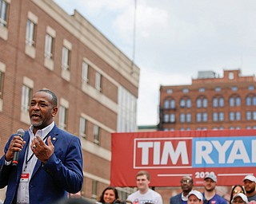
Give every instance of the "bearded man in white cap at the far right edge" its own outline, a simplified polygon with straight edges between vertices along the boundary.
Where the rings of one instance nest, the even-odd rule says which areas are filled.
[[[256,201],[255,182],[256,179],[254,175],[246,175],[246,177],[243,179],[243,184],[246,190],[246,196],[249,202]]]

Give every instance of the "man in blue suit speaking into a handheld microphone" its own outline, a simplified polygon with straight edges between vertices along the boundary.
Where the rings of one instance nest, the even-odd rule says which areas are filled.
[[[38,90],[30,101],[31,126],[25,135],[11,135],[0,160],[0,187],[5,203],[47,204],[82,188],[82,148],[78,137],[54,124],[58,100],[50,90]],[[13,166],[14,152],[19,152]]]

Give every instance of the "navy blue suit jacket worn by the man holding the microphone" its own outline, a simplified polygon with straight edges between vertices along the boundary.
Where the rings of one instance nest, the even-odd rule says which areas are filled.
[[[48,134],[54,145],[54,154],[46,164],[38,159],[30,179],[30,204],[53,203],[66,197],[67,192],[77,193],[82,188],[82,148],[80,139],[54,125]],[[5,153],[10,146],[12,135],[6,143]],[[5,156],[0,159],[0,187],[7,186],[5,203],[16,201],[18,184],[22,174],[22,165],[28,147],[30,135],[25,131],[26,141],[19,153],[18,166],[5,165]],[[46,142],[47,143],[47,142]],[[15,202],[16,203],[16,202]]]

